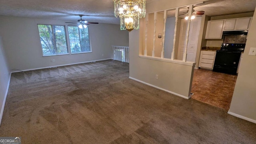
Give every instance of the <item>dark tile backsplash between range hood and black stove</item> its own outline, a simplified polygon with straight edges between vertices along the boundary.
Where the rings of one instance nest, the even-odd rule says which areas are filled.
[[[247,35],[226,35],[223,43],[245,44]]]

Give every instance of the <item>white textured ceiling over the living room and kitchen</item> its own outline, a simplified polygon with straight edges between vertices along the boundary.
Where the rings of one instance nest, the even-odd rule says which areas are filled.
[[[158,0],[147,0],[147,3]],[[77,14],[84,14],[83,19],[89,22],[119,24],[114,17],[113,0],[0,0],[0,15],[21,16],[30,18],[50,18],[76,22]],[[256,0],[209,0],[197,4],[195,11],[204,10],[208,16],[220,16],[253,12]],[[187,8],[181,8],[180,14]],[[170,10],[168,16],[174,16]]]

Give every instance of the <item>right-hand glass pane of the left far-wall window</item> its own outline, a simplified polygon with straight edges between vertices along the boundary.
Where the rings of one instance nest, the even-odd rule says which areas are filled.
[[[67,54],[68,47],[66,42],[66,33],[64,26],[53,26],[57,54]]]

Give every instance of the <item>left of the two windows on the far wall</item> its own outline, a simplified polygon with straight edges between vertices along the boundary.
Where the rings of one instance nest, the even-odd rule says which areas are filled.
[[[64,26],[38,24],[43,56],[68,54]]]

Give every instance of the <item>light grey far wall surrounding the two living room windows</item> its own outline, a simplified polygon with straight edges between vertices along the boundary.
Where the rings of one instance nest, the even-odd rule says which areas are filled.
[[[88,28],[92,53],[43,57],[37,24],[65,25],[65,21],[13,16],[0,16],[0,19],[0,35],[10,69],[28,70],[108,59],[113,57],[112,45],[129,46],[128,31],[121,31],[119,25],[91,24]],[[69,42],[68,50],[70,52]],[[55,62],[50,62],[51,59]]]

